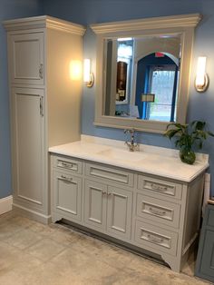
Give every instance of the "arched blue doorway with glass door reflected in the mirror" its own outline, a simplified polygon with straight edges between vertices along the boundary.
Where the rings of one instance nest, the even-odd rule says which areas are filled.
[[[176,121],[179,61],[169,55],[153,53],[138,62],[136,104],[143,120]],[[141,93],[155,94],[154,102],[141,102]]]

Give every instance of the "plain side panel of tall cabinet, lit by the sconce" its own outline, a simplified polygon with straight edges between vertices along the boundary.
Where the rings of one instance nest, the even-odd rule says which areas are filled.
[[[48,28],[47,101],[48,146],[80,140],[81,77],[72,80],[70,64],[83,62],[81,35]]]

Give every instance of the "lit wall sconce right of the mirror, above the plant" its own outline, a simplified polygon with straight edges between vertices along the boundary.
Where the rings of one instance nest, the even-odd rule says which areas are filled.
[[[206,74],[206,60],[205,56],[199,56],[198,58],[195,88],[199,93],[205,92],[209,86],[209,77]]]

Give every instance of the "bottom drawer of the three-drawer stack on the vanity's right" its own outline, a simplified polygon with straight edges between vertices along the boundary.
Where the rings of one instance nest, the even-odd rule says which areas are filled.
[[[159,251],[171,255],[177,253],[178,233],[176,232],[163,230],[144,221],[136,221],[134,238],[140,246],[148,246],[156,253]]]

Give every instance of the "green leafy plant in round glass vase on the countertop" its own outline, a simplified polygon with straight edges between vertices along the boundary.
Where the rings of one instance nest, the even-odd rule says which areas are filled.
[[[193,164],[196,160],[194,150],[201,149],[203,142],[214,133],[206,129],[206,122],[193,121],[190,124],[169,123],[164,135],[170,139],[176,135],[175,146],[180,149],[181,162]]]

